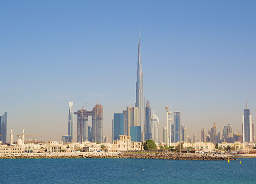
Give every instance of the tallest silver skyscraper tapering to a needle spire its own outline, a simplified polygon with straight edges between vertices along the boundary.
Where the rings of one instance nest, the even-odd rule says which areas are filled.
[[[140,31],[139,31],[139,45],[138,45],[138,67],[137,67],[137,82],[136,82],[136,104],[139,108],[139,126],[141,126],[142,137],[145,133],[145,99],[143,97],[143,73],[141,64],[141,53],[140,53]],[[142,139],[142,141],[144,141]]]

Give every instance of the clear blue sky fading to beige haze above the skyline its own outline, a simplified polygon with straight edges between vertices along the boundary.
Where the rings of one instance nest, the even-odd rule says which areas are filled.
[[[144,96],[166,126],[165,105],[188,134],[231,124],[242,132],[246,99],[256,114],[256,1],[0,2],[0,115],[16,134],[67,134],[74,110],[103,105],[111,120],[135,105],[138,27]],[[101,98],[99,98],[101,96]],[[75,137],[76,137],[76,115]]]

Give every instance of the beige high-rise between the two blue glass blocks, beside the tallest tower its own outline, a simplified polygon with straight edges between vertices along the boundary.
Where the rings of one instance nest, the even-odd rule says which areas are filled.
[[[139,109],[136,106],[127,107],[126,109],[127,113],[127,135],[130,135],[130,127],[131,126],[139,126]]]

